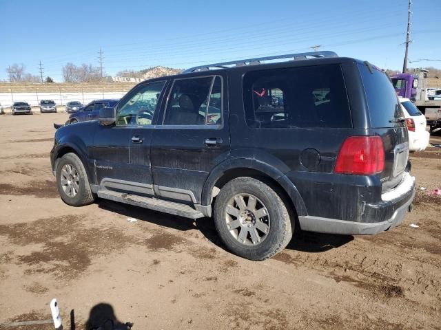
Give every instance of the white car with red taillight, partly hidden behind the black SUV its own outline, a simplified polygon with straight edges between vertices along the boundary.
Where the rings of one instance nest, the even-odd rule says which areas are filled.
[[[409,134],[409,150],[424,150],[427,148],[430,138],[430,133],[426,130],[426,117],[424,117],[409,98],[400,98],[400,103],[402,112],[406,118],[407,131]]]

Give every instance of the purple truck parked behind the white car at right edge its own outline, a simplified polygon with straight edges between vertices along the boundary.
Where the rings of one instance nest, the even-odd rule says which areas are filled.
[[[415,103],[433,131],[441,128],[441,100],[427,95],[427,72],[423,69],[420,74],[393,74],[391,80],[397,95]]]

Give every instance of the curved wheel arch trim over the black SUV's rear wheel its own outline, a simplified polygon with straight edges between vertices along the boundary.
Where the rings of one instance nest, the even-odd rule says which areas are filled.
[[[282,186],[282,188],[285,190],[291,201],[294,203],[297,214],[307,215],[305,203],[303,202],[300,193],[293,182],[289,180],[282,171],[274,166],[271,166],[270,164],[248,157],[232,157],[226,159],[212,170],[207,177],[202,190],[202,205],[208,206],[212,202],[212,188],[216,184],[216,181],[223,177],[228,170],[233,170],[235,168],[250,168],[253,170],[258,170],[259,172],[271,177],[271,179],[277,181],[278,184],[280,184],[280,186]]]

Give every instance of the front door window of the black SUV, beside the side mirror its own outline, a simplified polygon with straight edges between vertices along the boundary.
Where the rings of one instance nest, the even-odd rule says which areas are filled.
[[[135,89],[119,105],[116,126],[151,125],[164,86],[165,80],[141,85]]]

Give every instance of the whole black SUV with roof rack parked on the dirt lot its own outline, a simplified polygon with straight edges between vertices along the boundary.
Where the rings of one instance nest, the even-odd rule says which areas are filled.
[[[294,61],[264,63],[282,58]],[[59,129],[51,161],[69,205],[101,197],[213,215],[229,250],[263,260],[294,229],[376,234],[398,225],[415,193],[408,155],[387,75],[314,52],[146,80],[99,120]]]

